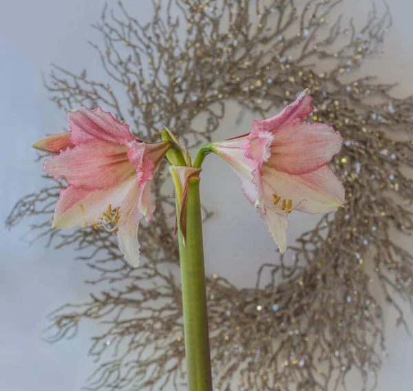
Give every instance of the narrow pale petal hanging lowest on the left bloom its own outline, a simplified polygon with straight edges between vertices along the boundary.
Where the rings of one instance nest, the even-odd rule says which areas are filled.
[[[139,209],[140,186],[138,178],[134,180],[123,204],[119,209],[118,242],[119,249],[131,266],[139,266],[138,226],[144,218]]]

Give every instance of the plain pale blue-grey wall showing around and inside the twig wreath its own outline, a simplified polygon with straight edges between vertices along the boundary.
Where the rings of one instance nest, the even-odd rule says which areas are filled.
[[[150,17],[149,0],[124,3],[136,16]],[[30,145],[65,126],[63,112],[47,101],[41,72],[47,74],[50,63],[57,63],[74,72],[85,67],[95,79],[103,78],[98,57],[87,44],[88,39],[98,39],[89,24],[98,19],[103,4],[98,0],[0,0],[3,222],[21,195],[42,187],[41,165],[33,162],[35,154]],[[112,4],[116,6],[115,2]],[[345,0],[340,12],[353,14],[362,21],[370,6],[370,1]],[[405,96],[413,92],[413,6],[409,0],[392,0],[390,7],[394,26],[383,45],[384,54],[366,61],[363,74],[376,74],[383,82],[401,83],[394,92]],[[231,124],[231,120],[227,119],[227,123]],[[246,124],[248,120],[251,118],[246,118]],[[246,131],[243,129],[243,133]],[[225,136],[238,133],[233,129]],[[207,189],[206,184],[212,182],[211,173],[214,171],[215,176],[217,169],[220,174],[214,181],[227,184],[225,192]],[[244,199],[231,170],[211,160],[207,160],[204,170],[202,196],[215,211],[213,220],[204,227],[207,273],[218,273],[240,286],[250,286],[255,282],[260,260],[274,259],[275,244]],[[299,219],[297,216],[290,224],[290,241],[313,222]],[[54,251],[45,248],[44,241],[30,246],[32,236],[25,222],[12,231],[3,230],[3,224],[1,229],[0,390],[81,390],[94,368],[86,352],[95,326],[83,324],[75,339],[54,345],[42,341],[41,332],[48,326],[45,316],[50,311],[65,302],[82,302],[87,298],[89,288],[83,280],[91,277],[90,272],[81,262],[73,261],[71,249]],[[413,317],[405,309],[413,326]],[[412,390],[413,340],[394,326],[392,310],[385,310],[385,316],[389,358],[384,359],[378,390]],[[354,386],[351,389],[360,389],[357,379],[350,383]]]

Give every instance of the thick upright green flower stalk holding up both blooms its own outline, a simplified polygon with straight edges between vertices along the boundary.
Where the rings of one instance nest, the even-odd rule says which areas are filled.
[[[188,186],[185,245],[182,232],[178,227],[188,390],[212,391],[200,179],[191,178]],[[179,220],[178,218],[178,222]]]

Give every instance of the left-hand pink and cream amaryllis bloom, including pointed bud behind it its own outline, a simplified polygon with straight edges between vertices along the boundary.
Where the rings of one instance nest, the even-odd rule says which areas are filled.
[[[45,160],[43,171],[68,184],[57,201],[53,227],[117,230],[120,251],[138,266],[138,225],[152,218],[151,181],[170,143],[136,140],[128,125],[100,107],[71,111],[67,121],[69,132],[33,145],[58,154]]]

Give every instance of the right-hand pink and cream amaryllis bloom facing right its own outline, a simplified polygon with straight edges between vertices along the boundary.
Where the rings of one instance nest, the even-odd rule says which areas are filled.
[[[291,211],[327,213],[344,202],[343,185],[328,167],[342,138],[324,123],[304,122],[312,100],[304,91],[276,116],[254,120],[250,134],[211,145],[241,179],[281,253]]]

